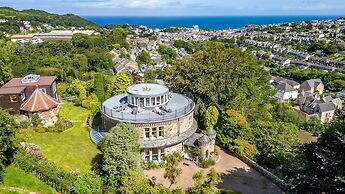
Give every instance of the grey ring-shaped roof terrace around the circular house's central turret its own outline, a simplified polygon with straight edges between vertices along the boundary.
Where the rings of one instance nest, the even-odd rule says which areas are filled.
[[[165,112],[163,115],[154,113],[152,109],[141,109],[137,114],[132,114],[131,106],[127,106],[124,110],[117,110],[116,107],[128,103],[127,94],[113,96],[106,100],[101,106],[101,112],[110,119],[131,122],[161,122],[169,121],[183,117],[194,110],[194,102],[190,98],[177,93],[171,93],[172,97],[169,102],[165,104],[167,109],[171,112]]]

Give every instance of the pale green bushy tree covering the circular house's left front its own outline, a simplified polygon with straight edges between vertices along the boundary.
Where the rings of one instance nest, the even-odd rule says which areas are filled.
[[[107,175],[119,175],[126,169],[140,170],[138,139],[138,130],[130,124],[119,123],[110,129],[99,145]]]

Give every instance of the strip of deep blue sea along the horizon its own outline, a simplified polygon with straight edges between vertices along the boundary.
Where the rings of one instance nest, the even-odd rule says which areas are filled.
[[[340,16],[83,16],[99,26],[106,24],[145,25],[149,28],[164,29],[171,26],[192,27],[198,25],[203,29],[236,29],[248,24],[265,25],[309,20],[337,19]]]

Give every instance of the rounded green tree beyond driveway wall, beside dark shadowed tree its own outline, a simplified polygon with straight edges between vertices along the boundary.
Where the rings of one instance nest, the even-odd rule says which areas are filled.
[[[251,141],[259,150],[257,162],[280,177],[284,170],[297,168],[297,147],[301,144],[297,132],[298,128],[292,123],[255,123]]]

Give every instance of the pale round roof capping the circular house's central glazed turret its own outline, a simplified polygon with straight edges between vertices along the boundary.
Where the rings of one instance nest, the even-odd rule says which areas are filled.
[[[127,89],[128,94],[132,94],[134,96],[141,96],[141,97],[154,97],[163,95],[169,92],[169,88],[164,85],[159,84],[136,84],[130,86]]]

